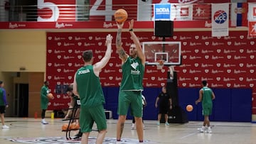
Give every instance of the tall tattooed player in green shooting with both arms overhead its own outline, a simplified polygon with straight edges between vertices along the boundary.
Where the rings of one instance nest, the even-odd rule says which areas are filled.
[[[119,58],[122,60],[122,82],[119,89],[118,110],[119,114],[117,121],[117,141],[121,140],[124,130],[124,122],[127,118],[129,107],[131,108],[132,116],[137,123],[137,135],[139,142],[143,143],[143,123],[142,123],[142,79],[145,69],[145,55],[142,52],[142,47],[139,39],[133,31],[134,20],[129,22],[129,33],[132,36],[133,43],[129,48],[129,55],[122,48],[122,27],[124,23],[117,23],[117,38],[116,47]]]

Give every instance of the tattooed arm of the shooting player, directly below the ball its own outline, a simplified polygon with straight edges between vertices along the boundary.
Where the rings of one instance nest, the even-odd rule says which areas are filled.
[[[117,38],[116,38],[116,47],[117,47],[117,53],[119,55],[119,58],[122,60],[122,63],[127,60],[127,53],[124,51],[124,48],[122,48],[122,27],[124,26],[124,23],[117,23]]]

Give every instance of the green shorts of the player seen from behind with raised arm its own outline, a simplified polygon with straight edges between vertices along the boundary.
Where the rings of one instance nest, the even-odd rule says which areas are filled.
[[[107,129],[105,110],[103,105],[95,106],[92,108],[82,108],[80,106],[79,118],[80,130],[82,133],[92,131],[93,123],[97,125],[97,130],[102,131]]]

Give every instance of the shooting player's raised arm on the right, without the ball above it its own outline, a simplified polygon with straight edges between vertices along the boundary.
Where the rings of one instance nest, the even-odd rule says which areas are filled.
[[[138,55],[139,59],[142,61],[142,65],[145,66],[146,58],[145,58],[144,53],[142,52],[142,46],[139,43],[139,39],[137,38],[137,35],[135,35],[135,33],[133,31],[133,26],[134,26],[134,20],[132,19],[129,22],[129,33],[131,34],[132,40],[133,40],[134,44],[136,45],[137,55]]]

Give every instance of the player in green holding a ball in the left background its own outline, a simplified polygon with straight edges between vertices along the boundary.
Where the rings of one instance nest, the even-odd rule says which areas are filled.
[[[45,81],[43,84],[43,87],[41,88],[41,109],[42,109],[42,113],[41,113],[41,117],[42,117],[42,121],[41,123],[43,124],[48,124],[48,122],[46,122],[45,118],[46,118],[46,110],[48,109],[48,94],[50,93],[50,89],[49,89],[49,82]]]

